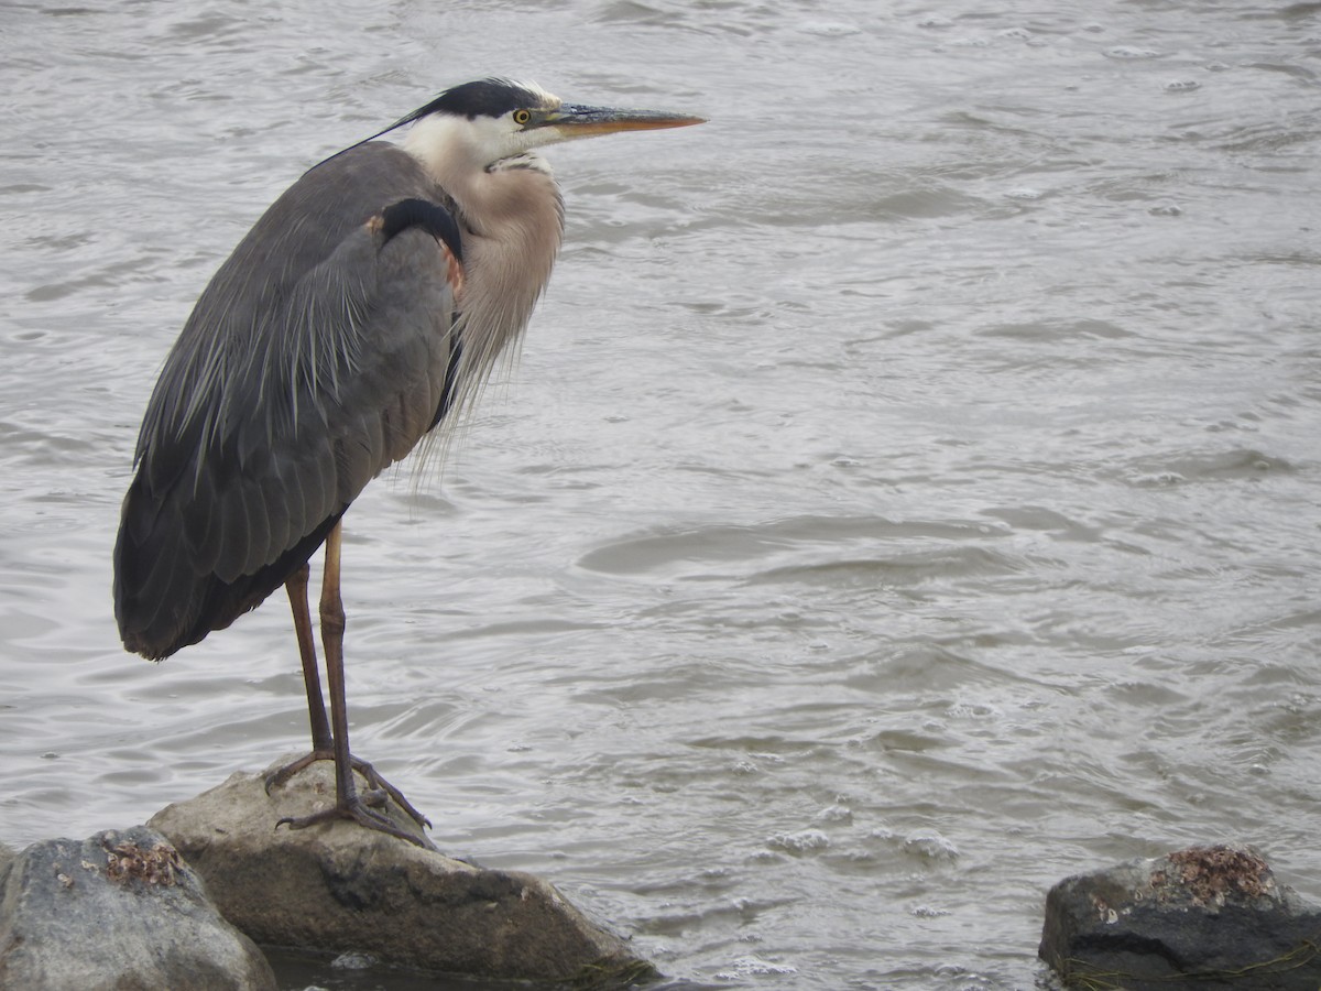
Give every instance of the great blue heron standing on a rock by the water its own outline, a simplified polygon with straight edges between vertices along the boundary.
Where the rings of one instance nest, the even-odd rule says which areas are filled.
[[[523,333],[559,251],[564,207],[542,145],[700,118],[563,103],[528,83],[456,86],[309,169],[197,301],[143,419],[115,543],[124,646],[162,659],[285,585],[312,752],[336,805],[411,842],[370,805],[394,795],[349,752],[341,518],[363,486],[469,404]],[[403,147],[375,139],[412,124]],[[308,609],[325,546],[326,720]],[[357,768],[371,791],[359,795]]]

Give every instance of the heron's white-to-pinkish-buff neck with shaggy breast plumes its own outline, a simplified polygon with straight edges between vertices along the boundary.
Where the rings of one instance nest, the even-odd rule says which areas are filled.
[[[527,328],[560,250],[564,203],[544,160],[522,153],[485,166],[460,135],[452,122],[423,119],[404,148],[453,197],[461,214],[458,399],[466,404]]]

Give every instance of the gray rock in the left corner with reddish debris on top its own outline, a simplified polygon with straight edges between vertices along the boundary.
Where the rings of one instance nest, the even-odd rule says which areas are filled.
[[[135,826],[12,858],[0,877],[0,988],[184,987],[275,991],[275,975],[162,835]]]

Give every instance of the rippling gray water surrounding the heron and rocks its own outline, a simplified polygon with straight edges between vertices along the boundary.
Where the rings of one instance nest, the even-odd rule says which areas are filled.
[[[687,986],[1030,988],[1190,843],[1321,900],[1318,73],[1312,3],[4,3],[0,839],[305,748],[280,597],[120,650],[137,423],[284,186],[509,74],[711,123],[550,152],[520,361],[346,519],[437,844]]]

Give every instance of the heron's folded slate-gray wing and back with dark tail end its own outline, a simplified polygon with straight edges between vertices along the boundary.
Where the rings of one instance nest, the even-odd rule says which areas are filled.
[[[197,301],[156,383],[115,544],[124,645],[164,658],[258,605],[444,415],[453,203],[371,143],[309,170]]]

